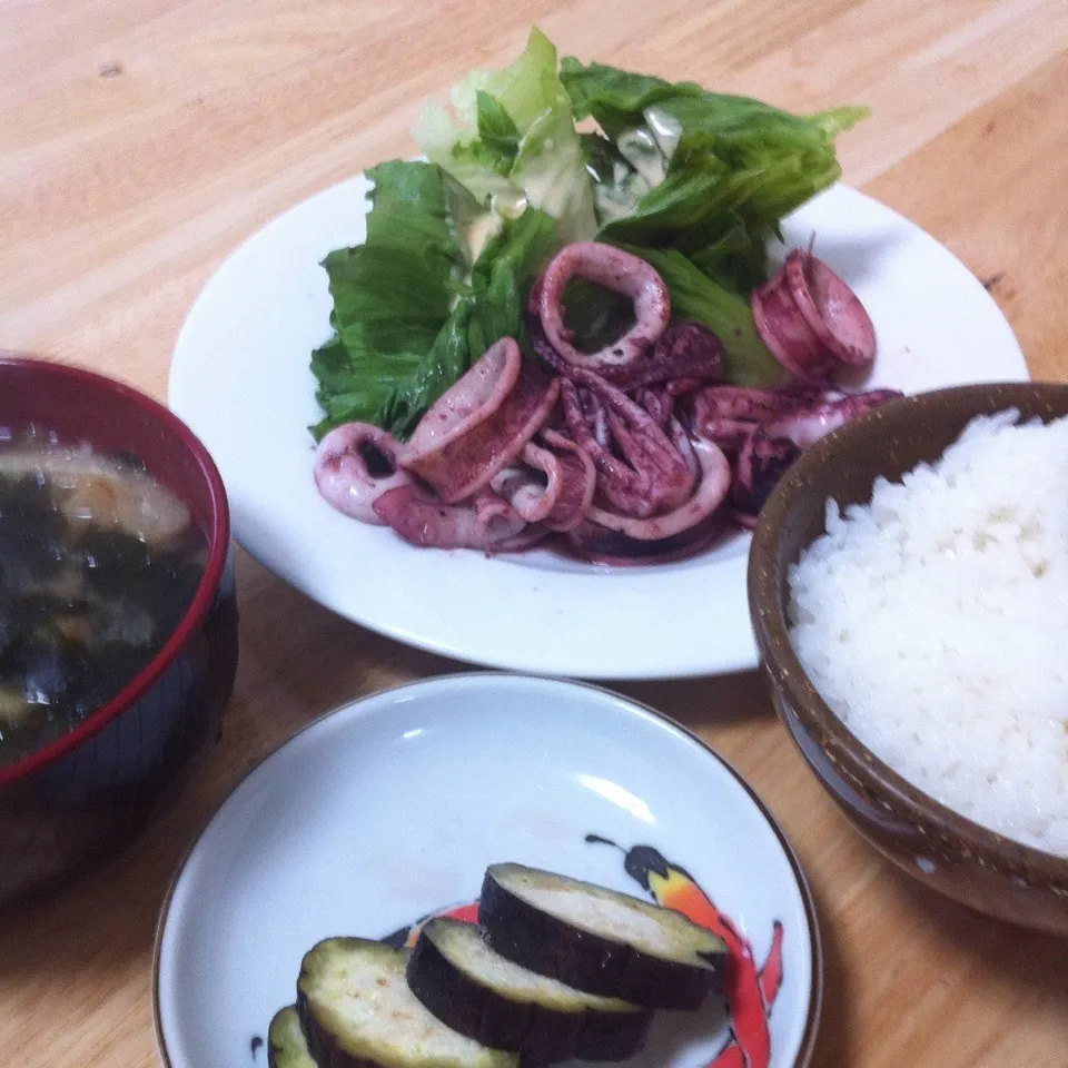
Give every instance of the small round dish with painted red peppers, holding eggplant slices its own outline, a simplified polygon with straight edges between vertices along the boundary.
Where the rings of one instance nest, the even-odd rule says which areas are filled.
[[[230,795],[164,906],[156,1025],[169,1068],[256,1068],[322,938],[380,938],[472,901],[517,861],[639,896],[620,849],[656,849],[733,920],[763,967],[771,1058],[808,1062],[821,957],[798,862],[755,794],[692,735],[592,686],[454,675],[319,720]],[[744,969],[736,969],[741,975]],[[764,981],[774,987],[770,971]],[[750,982],[756,980],[750,976]],[[756,988],[750,992],[758,998]],[[750,1050],[760,1027],[739,1028]],[[654,1021],[632,1068],[705,1068],[730,1041],[722,1002]],[[759,1057],[751,1068],[762,1068]]]

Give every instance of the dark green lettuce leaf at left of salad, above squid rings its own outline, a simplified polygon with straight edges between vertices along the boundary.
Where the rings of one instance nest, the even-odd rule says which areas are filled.
[[[322,438],[347,422],[399,437],[498,338],[522,337],[523,297],[558,247],[556,222],[528,209],[468,264],[469,198],[437,166],[384,164],[367,240],[330,253],[334,336],[312,354]]]

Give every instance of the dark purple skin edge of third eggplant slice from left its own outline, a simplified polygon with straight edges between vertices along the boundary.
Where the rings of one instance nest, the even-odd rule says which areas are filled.
[[[573,1057],[625,1060],[641,1048],[652,1022],[651,1010],[595,1009],[582,1005],[581,995],[573,1010],[511,998],[442,952],[434,936],[452,922],[432,920],[424,928],[408,961],[407,979],[412,992],[453,1030],[485,1046],[521,1052],[524,1065]]]

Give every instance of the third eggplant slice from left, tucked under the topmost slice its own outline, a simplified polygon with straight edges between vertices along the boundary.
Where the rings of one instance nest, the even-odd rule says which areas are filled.
[[[419,934],[408,986],[451,1028],[543,1061],[625,1060],[652,1010],[540,976],[494,952],[481,928],[438,917]]]

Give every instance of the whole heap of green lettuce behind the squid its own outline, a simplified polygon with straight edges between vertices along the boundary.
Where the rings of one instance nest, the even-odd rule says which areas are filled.
[[[367,172],[367,239],[323,264],[334,336],[312,356],[324,411],[313,433],[365,421],[406,437],[493,342],[512,335],[528,350],[530,287],[574,240],[649,260],[674,315],[720,336],[729,380],[779,380],[750,294],[780,220],[838,179],[834,138],[866,113],[801,117],[693,82],[557,63],[532,30],[510,67],[472,71],[449,108],[424,109],[413,132],[426,162]],[[626,309],[609,299],[599,315],[599,293],[576,286],[567,303],[568,322],[601,339],[625,328]]]

